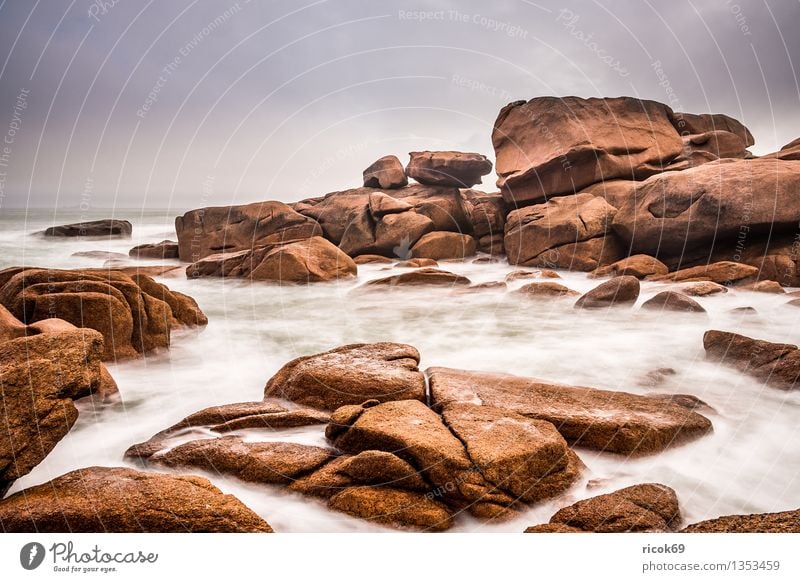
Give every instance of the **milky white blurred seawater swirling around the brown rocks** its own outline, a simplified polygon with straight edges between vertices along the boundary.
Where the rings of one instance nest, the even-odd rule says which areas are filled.
[[[134,223],[132,239],[112,242],[46,240],[28,233],[80,216],[3,210],[0,267],[97,267],[103,260],[77,258],[78,251],[126,253],[135,244],[175,239],[177,213],[117,210]],[[92,215],[87,218],[111,216]],[[148,261],[152,264],[152,261]],[[503,280],[514,267],[503,263],[447,263],[443,268],[473,282]],[[530,300],[486,290],[455,294],[449,289],[383,290],[354,294],[364,281],[399,272],[385,265],[359,267],[357,282],[281,287],[238,280],[183,277],[160,279],[194,297],[209,318],[202,331],[173,334],[168,352],[110,365],[124,404],[94,408],[81,403],[73,430],[13,491],[90,465],[124,465],[131,444],[201,408],[260,400],[267,380],[287,361],[345,343],[397,341],[417,347],[421,367],[450,366],[507,372],[547,380],[639,394],[695,395],[714,433],[665,453],[625,460],[578,449],[588,466],[583,480],[558,499],[532,507],[518,520],[485,525],[459,517],[455,530],[521,531],[546,522],[573,501],[635,483],[673,487],[686,521],[724,514],[782,511],[800,507],[800,393],[784,392],[724,366],[704,361],[703,332],[722,329],[780,342],[798,343],[800,309],[781,295],[731,290],[698,298],[707,316],[644,313],[637,308],[577,312],[573,300]],[[599,282],[582,273],[561,273],[562,283],[587,291]],[[515,289],[530,282],[516,281]],[[665,289],[644,283],[638,304]],[[638,305],[637,304],[637,305]],[[757,316],[731,314],[751,306]],[[648,385],[657,368],[677,373]],[[323,427],[291,429],[249,438],[324,444]],[[328,511],[315,500],[280,487],[243,484],[207,475],[237,495],[277,530],[371,531],[361,520]],[[587,489],[589,480],[600,485]]]

